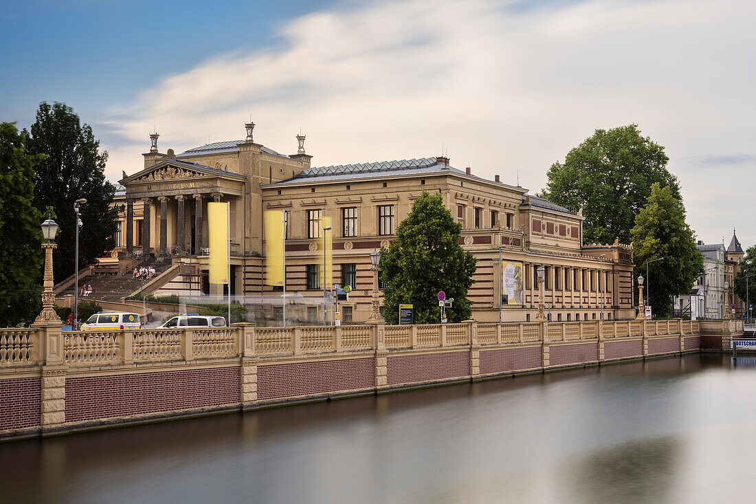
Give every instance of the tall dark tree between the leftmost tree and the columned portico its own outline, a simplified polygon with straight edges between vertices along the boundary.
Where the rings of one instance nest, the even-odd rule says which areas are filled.
[[[91,127],[82,125],[71,107],[45,102],[39,105],[32,125],[28,151],[47,154],[36,169],[34,205],[40,210],[54,207],[60,226],[54,251],[56,282],[73,275],[76,216],[73,202],[86,198],[79,232],[79,268],[93,264],[115,246],[118,208],[113,207],[115,187],[105,180],[107,152]]]

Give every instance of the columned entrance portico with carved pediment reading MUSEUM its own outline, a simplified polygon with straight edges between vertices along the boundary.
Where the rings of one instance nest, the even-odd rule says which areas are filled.
[[[131,254],[141,244],[144,257],[181,256],[190,249],[202,254],[207,247],[210,201],[231,204],[232,249],[240,251],[245,181],[240,173],[177,160],[169,151],[152,166],[120,181],[126,189],[126,251]],[[187,207],[192,199],[194,209]],[[135,219],[135,204],[142,206],[141,223]]]

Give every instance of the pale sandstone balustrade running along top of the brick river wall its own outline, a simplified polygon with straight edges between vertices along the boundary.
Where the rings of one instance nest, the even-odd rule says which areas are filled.
[[[723,321],[721,328],[736,331],[742,321]],[[224,359],[240,355],[243,331],[249,328],[173,328],[135,331],[64,331],[62,361],[71,366],[113,365],[129,362],[165,362]],[[541,341],[579,341],[599,338],[700,334],[699,321],[620,320],[575,322],[507,322],[428,325],[385,325],[386,348],[432,348],[471,344],[472,334],[482,346]],[[373,325],[252,328],[253,353],[260,356],[374,350],[378,332]],[[544,334],[545,333],[545,334]],[[44,329],[0,329],[0,366],[29,366],[45,351],[38,341]],[[247,340],[249,341],[249,340]],[[44,343],[44,341],[43,341]]]

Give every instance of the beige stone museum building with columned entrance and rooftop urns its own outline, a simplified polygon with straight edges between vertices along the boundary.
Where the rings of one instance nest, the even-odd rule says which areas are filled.
[[[287,306],[292,304],[287,318],[322,320],[318,222],[329,216],[333,282],[352,287],[349,300],[339,303],[341,319],[362,322],[373,292],[370,253],[395,238],[415,198],[429,191],[443,195],[462,225],[460,244],[478,259],[468,292],[474,319],[534,319],[538,266],[545,269],[544,304],[552,320],[635,316],[632,247],[583,244],[579,212],[500,182],[498,175],[487,180],[469,167],[458,170],[446,157],[314,167],[303,135],[296,136],[297,153],[285,155],[254,142],[253,128],[246,124],[244,140],[181,154],[161,154],[159,135],[150,135],[144,167],[123,174],[114,254],[123,264],[135,258],[172,264],[153,286],[155,294],[211,294],[207,204],[222,201],[231,209],[232,295],[260,313],[270,310],[271,318],[282,310],[280,288],[263,282],[262,227],[265,210],[283,210]]]

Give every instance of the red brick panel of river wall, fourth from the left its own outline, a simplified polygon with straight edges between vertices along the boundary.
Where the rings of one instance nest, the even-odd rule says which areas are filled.
[[[469,353],[389,356],[386,359],[386,374],[386,383],[389,385],[469,376]]]

